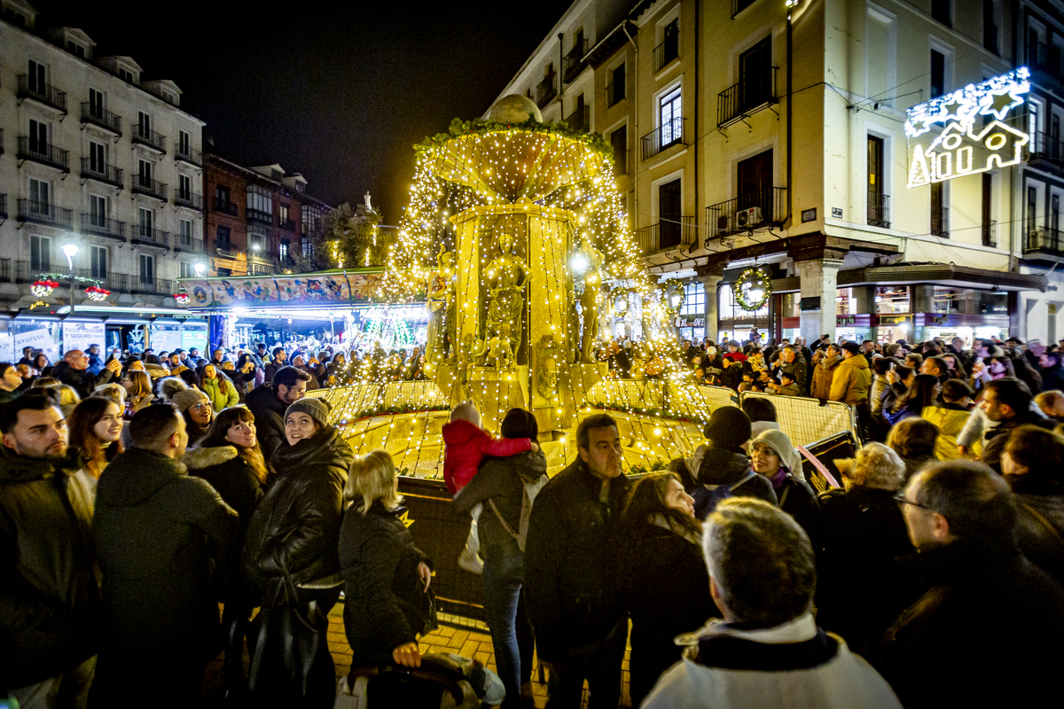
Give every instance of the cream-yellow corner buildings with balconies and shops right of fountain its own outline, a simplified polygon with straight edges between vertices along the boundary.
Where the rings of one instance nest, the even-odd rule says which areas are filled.
[[[1048,0],[578,0],[500,96],[614,146],[648,268],[684,283],[684,336],[1055,340],[1062,18]],[[971,129],[1018,164],[914,178],[949,129],[913,135],[909,109],[1019,67],[1030,91]],[[743,274],[765,276],[757,310]]]

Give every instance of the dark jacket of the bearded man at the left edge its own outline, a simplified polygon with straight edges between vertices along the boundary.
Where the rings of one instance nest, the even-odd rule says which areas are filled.
[[[0,445],[0,686],[26,687],[96,654],[100,595],[92,521],[68,495],[81,468],[70,454],[52,462]]]

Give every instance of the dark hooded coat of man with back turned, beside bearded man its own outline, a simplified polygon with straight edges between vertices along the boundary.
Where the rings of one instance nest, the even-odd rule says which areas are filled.
[[[213,657],[218,590],[227,580],[216,569],[227,569],[238,551],[236,512],[177,460],[132,449],[100,475],[93,520],[103,574],[103,652]]]

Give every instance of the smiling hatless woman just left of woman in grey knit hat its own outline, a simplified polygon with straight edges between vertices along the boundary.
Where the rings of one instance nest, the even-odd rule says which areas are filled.
[[[268,478],[266,461],[255,437],[255,417],[243,406],[233,406],[218,413],[206,437],[195,450],[182,456],[189,475],[211,484],[222,501],[239,516],[240,547],[251,516],[254,514]],[[222,677],[227,695],[238,696],[246,686],[244,677],[244,635],[248,629],[253,592],[243,588],[239,578],[239,558],[231,559],[223,575],[230,581],[221,614],[226,639],[226,659]]]

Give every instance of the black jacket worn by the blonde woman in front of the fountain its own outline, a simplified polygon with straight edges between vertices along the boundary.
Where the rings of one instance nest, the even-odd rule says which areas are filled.
[[[344,629],[353,666],[392,661],[392,651],[417,640],[427,619],[417,564],[432,562],[414,545],[406,525],[380,500],[365,514],[344,513],[339,563],[344,575]]]

